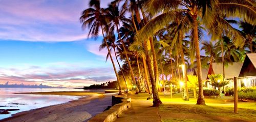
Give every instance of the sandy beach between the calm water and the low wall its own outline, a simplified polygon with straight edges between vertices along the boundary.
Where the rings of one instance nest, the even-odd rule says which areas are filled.
[[[88,121],[89,118],[111,106],[111,96],[113,94],[86,93],[86,92],[46,92],[46,93],[26,93],[40,95],[74,95],[87,96],[67,103],[47,106],[43,108],[23,111],[13,114],[12,117],[0,121],[10,122],[32,122],[32,121]]]

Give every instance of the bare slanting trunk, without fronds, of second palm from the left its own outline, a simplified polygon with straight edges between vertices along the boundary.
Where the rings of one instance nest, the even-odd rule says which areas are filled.
[[[125,57],[126,57],[126,58],[125,58],[125,59],[126,59],[126,62],[128,63],[129,68],[130,68],[130,71],[131,71],[132,79],[133,79],[134,83],[136,84],[136,80],[135,80],[134,73],[133,73],[133,68],[132,68],[132,66],[131,66],[129,57],[128,57],[128,55],[127,55],[127,51],[126,51],[126,48],[125,48],[125,46],[124,46],[123,40],[122,40],[122,38],[121,38],[121,36],[120,36],[119,28],[118,28],[118,25],[117,25],[117,24],[116,24],[116,29],[117,29],[118,37],[119,37],[119,39],[121,40],[121,43],[122,43],[122,47],[123,47],[124,54],[125,54]],[[139,90],[139,89],[138,89],[138,87],[137,87],[137,85],[136,85],[136,94],[138,94],[138,90]]]

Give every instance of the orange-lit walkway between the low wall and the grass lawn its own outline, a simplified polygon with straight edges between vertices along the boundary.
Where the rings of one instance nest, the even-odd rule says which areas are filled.
[[[151,107],[152,100],[135,100],[133,97],[136,95],[129,95],[132,98],[131,108],[124,111],[115,121],[146,121],[157,122],[161,121],[158,114],[158,107]]]

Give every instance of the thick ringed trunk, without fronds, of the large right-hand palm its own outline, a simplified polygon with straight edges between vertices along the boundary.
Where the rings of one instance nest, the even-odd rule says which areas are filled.
[[[197,58],[197,75],[198,75],[198,98],[197,98],[197,104],[198,105],[205,105],[204,101],[204,94],[203,94],[203,81],[202,81],[202,68],[201,68],[201,57],[200,57],[200,47],[199,47],[199,40],[198,40],[198,21],[197,21],[197,15],[193,16],[193,24],[194,24],[194,31],[193,31],[193,37],[195,41],[195,49],[196,49],[196,58]]]

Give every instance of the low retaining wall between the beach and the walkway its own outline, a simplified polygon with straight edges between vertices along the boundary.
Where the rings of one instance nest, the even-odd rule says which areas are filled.
[[[118,97],[118,96],[117,96]],[[116,97],[116,98],[117,98]],[[131,108],[131,98],[123,98],[122,103],[112,106],[100,114],[97,114],[89,122],[111,122],[114,121],[123,111]]]

